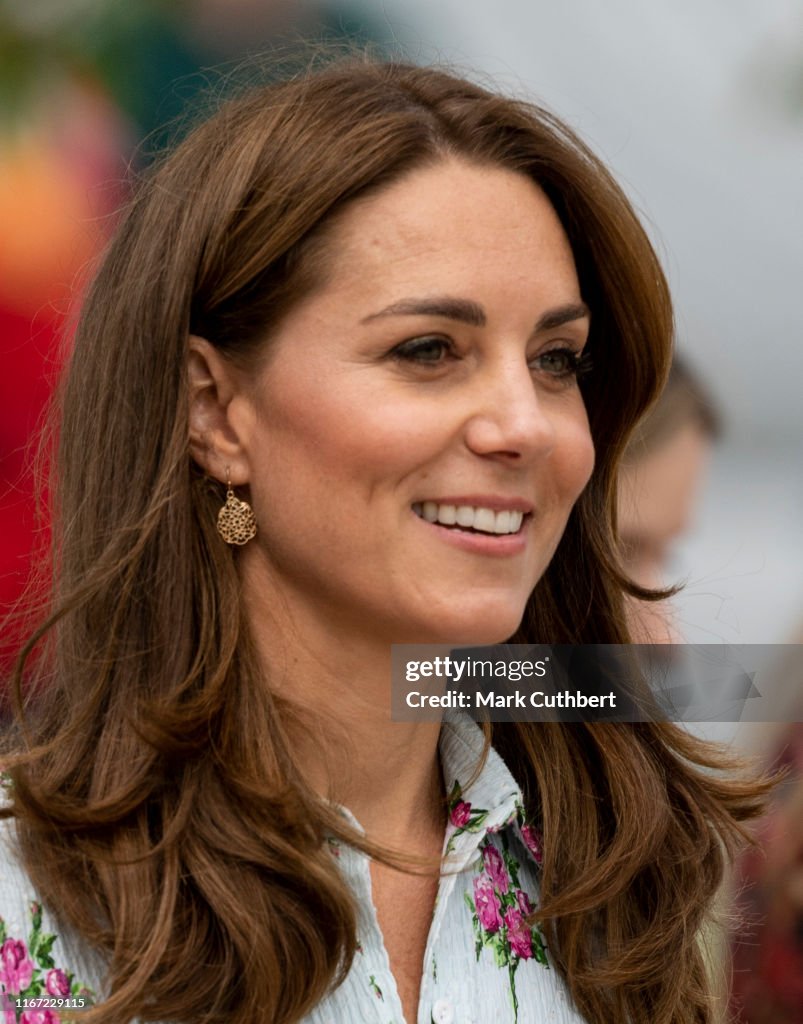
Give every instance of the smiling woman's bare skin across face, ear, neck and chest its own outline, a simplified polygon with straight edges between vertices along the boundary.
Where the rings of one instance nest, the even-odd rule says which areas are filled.
[[[347,207],[329,251],[325,283],[271,332],[255,374],[193,339],[192,450],[254,507],[246,606],[270,685],[321,713],[297,737],[310,784],[334,796],[326,752],[345,744],[337,799],[369,836],[438,858],[439,726],[389,721],[389,645],[493,643],[517,627],[593,468],[564,372],[589,319],[552,207],[506,170],[414,171]],[[439,311],[411,311],[422,298]],[[466,302],[483,323],[465,322]],[[530,513],[495,546],[413,508],[456,496]],[[372,876],[414,1020],[437,883],[376,863]]]

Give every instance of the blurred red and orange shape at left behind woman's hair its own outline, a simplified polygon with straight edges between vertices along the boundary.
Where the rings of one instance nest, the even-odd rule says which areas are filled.
[[[24,593],[32,552],[47,545],[36,515],[38,435],[68,318],[124,194],[126,147],[115,109],[75,81],[0,138],[0,621]],[[4,622],[0,680],[18,642]]]

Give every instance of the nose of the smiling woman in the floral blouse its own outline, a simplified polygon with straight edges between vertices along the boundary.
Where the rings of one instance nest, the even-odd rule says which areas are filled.
[[[524,358],[500,359],[474,383],[474,410],[465,428],[472,452],[523,463],[552,451],[555,424],[549,402],[539,394]]]

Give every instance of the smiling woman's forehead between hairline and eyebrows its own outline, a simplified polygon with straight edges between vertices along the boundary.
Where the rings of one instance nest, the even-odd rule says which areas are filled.
[[[580,298],[568,240],[530,178],[443,160],[347,207],[327,232],[329,281],[365,291],[489,283],[549,285]],[[451,279],[454,279],[452,281]],[[566,295],[565,290],[575,295]]]

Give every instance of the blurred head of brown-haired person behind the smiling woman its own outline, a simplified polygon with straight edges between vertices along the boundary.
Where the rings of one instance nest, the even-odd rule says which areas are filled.
[[[627,446],[619,477],[623,562],[630,579],[645,590],[662,590],[667,585],[672,547],[691,523],[719,431],[711,397],[676,354],[661,397]],[[629,596],[626,603],[634,642],[681,641],[670,600]]]

